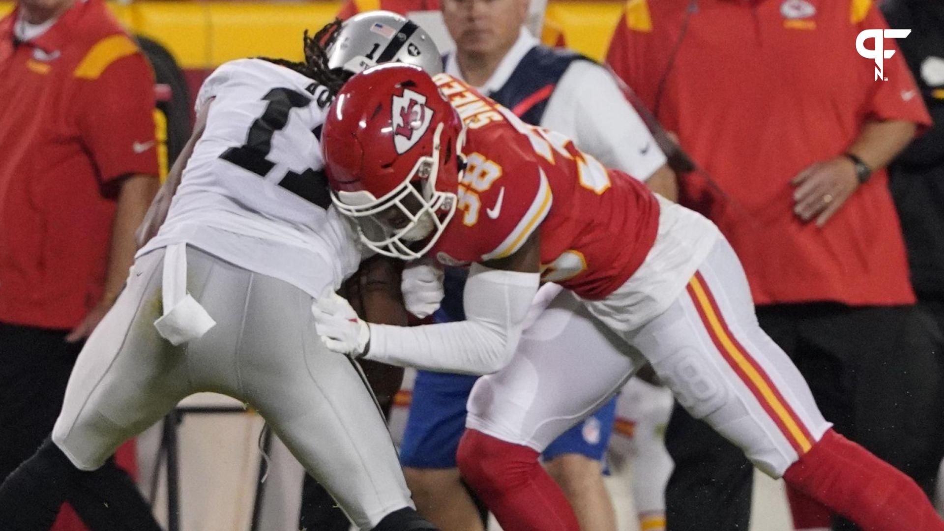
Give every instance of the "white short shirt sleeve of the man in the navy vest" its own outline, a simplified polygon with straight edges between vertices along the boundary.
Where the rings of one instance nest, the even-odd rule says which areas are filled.
[[[541,126],[574,140],[609,168],[647,180],[666,163],[652,133],[610,72],[588,60],[567,68],[548,101]]]

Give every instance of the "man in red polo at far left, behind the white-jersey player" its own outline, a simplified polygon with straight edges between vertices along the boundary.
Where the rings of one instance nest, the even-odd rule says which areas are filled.
[[[158,187],[154,109],[150,65],[102,0],[20,0],[0,20],[0,478],[52,431],[125,282]],[[93,473],[134,488],[113,464]],[[73,505],[97,527],[101,503]]]

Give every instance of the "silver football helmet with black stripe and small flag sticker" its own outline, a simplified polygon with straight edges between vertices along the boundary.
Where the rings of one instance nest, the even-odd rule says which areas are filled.
[[[443,71],[443,58],[430,35],[392,11],[365,11],[347,19],[326,51],[329,68],[351,74],[380,62],[414,64],[430,76]]]

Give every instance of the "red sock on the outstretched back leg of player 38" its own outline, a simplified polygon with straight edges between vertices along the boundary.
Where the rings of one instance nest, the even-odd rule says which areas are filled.
[[[786,470],[784,480],[863,531],[944,531],[917,483],[833,430]]]

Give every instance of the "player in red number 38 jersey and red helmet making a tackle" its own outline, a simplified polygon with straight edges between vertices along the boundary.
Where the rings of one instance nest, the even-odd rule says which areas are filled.
[[[755,466],[864,529],[944,529],[912,480],[822,418],[758,326],[732,248],[700,214],[463,82],[408,66],[352,77],[322,142],[334,205],[358,222],[362,243],[471,266],[465,321],[368,325],[326,298],[313,308],[318,333],[354,357],[494,373],[469,399],[459,465],[505,528],[578,529],[537,455],[645,359]],[[582,350],[579,340],[565,358],[515,354],[526,328],[552,324],[556,308],[532,307],[542,280],[570,290],[574,312],[641,355]]]

